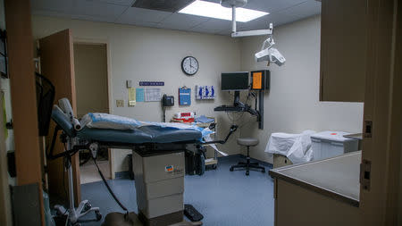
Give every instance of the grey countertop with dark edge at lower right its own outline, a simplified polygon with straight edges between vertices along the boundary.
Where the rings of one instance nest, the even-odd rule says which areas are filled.
[[[323,159],[311,163],[272,169],[272,178],[286,180],[350,205],[359,205],[360,163],[362,152]]]

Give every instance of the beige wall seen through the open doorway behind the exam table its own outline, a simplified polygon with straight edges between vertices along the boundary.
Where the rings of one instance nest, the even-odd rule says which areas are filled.
[[[74,44],[77,115],[109,113],[106,45]]]

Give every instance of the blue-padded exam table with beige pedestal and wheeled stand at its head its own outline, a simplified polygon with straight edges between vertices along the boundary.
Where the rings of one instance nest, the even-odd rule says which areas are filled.
[[[93,117],[93,115],[90,116]],[[96,213],[96,220],[99,221],[102,218],[99,208],[88,205],[87,200],[82,201],[77,209],[74,208],[71,170],[73,155],[80,150],[88,149],[95,160],[100,147],[133,150],[133,170],[138,204],[138,215],[129,213],[113,194],[98,169],[114,200],[126,211],[126,213],[109,213],[106,215],[103,225],[201,225],[202,222],[183,221],[184,152],[197,151],[197,148],[203,145],[224,144],[237,130],[237,126],[233,125],[224,140],[203,142],[203,130],[197,130],[195,127],[175,127],[172,126],[172,123],[166,124],[166,126],[160,123],[146,123],[130,130],[116,130],[110,126],[100,129],[80,125],[80,121],[75,119],[70,102],[66,98],[61,99],[59,105],[54,105],[51,117],[56,123],[56,128],[48,157],[55,159],[63,156],[67,162],[70,161],[70,164],[66,166],[70,194],[68,218],[73,225],[79,224],[80,217],[90,212]],[[117,123],[116,128],[120,129],[120,126],[125,124],[120,120],[121,118],[118,119],[113,118],[108,122]],[[99,122],[99,119],[94,121]],[[59,130],[63,131],[61,140],[65,144],[66,150],[54,155],[54,143]],[[63,213],[64,209],[61,206],[59,208],[61,209],[58,213]]]

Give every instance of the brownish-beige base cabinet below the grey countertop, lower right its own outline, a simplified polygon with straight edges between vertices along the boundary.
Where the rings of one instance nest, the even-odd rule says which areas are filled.
[[[285,180],[275,179],[274,226],[356,226],[359,208]]]

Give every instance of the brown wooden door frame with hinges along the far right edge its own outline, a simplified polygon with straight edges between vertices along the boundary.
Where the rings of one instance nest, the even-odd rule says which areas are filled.
[[[401,161],[402,4],[368,0],[368,52],[364,95],[361,225],[402,225],[398,217]],[[399,190],[400,192],[400,190]],[[401,196],[401,194],[399,194]],[[399,199],[400,200],[400,199]]]

